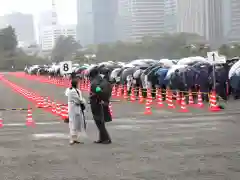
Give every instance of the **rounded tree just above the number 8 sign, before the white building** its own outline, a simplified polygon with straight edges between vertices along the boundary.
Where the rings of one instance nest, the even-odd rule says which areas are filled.
[[[71,58],[82,46],[75,41],[72,36],[60,36],[52,50],[52,58],[54,61],[60,62],[67,58]]]

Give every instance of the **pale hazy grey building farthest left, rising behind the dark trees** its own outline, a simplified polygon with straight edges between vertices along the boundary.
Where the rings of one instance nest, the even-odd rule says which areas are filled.
[[[35,42],[33,15],[13,13],[5,15],[4,19],[6,24],[15,29],[18,41],[25,43]]]

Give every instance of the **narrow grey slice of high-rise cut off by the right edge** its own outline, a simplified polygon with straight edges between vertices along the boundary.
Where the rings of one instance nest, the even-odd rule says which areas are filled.
[[[230,42],[240,42],[240,1],[230,0]]]

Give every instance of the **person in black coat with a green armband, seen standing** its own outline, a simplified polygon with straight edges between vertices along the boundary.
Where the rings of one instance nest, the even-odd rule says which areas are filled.
[[[102,78],[97,69],[89,73],[91,81],[90,86],[90,105],[93,119],[99,130],[99,139],[95,143],[110,144],[111,138],[105,127],[105,122],[112,121],[109,111],[109,102],[111,98],[111,84]]]

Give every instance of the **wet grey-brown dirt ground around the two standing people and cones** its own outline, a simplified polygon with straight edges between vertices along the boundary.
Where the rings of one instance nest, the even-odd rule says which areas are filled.
[[[23,88],[66,103],[64,88],[37,81],[7,79]],[[0,108],[26,108],[27,100],[0,82]],[[236,102],[234,102],[236,103]],[[239,104],[235,104],[239,106]],[[88,110],[89,111],[89,110]],[[179,114],[165,110],[144,116],[144,106],[113,104],[109,123],[113,144],[93,144],[96,127],[90,112],[88,138],[68,145],[68,127],[59,118],[33,110],[36,126],[26,127],[26,112],[2,112],[0,177],[6,180],[239,180],[238,112]],[[164,118],[163,118],[164,117]]]

